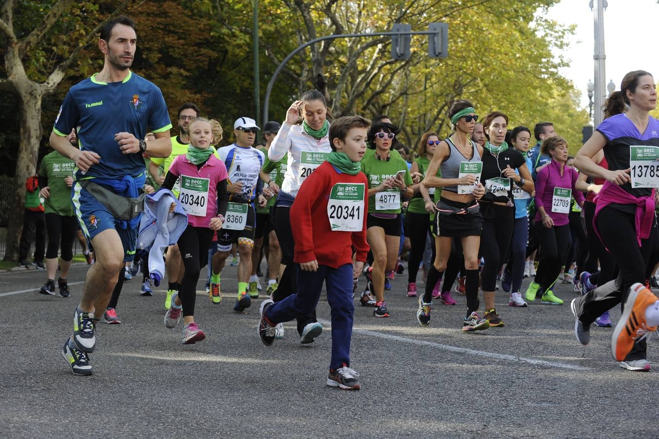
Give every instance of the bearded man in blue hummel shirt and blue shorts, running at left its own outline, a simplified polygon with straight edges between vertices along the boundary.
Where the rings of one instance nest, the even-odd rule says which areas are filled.
[[[136,41],[130,18],[120,16],[103,26],[98,40],[105,57],[103,70],[71,87],[50,135],[51,146],[76,164],[74,211],[96,254],[74,313],[73,335],[62,351],[78,375],[92,374],[87,354],[96,347],[94,326],[124,261],[132,260],[135,252],[140,203],[132,200],[131,209],[119,212],[116,201],[140,194],[145,180],[142,154],[167,157],[171,152],[171,121],[162,93],[129,70]],[[66,138],[73,127],[80,149]],[[154,132],[155,140],[141,140],[148,131]]]

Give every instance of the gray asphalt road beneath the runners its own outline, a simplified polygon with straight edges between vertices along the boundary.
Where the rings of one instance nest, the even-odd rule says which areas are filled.
[[[299,343],[294,322],[283,340],[262,345],[260,301],[244,314],[232,310],[230,266],[220,305],[199,283],[196,321],[207,338],[196,345],[180,344],[181,324],[163,325],[163,290],[141,297],[140,279],[127,281],[117,307],[122,324],[98,326],[94,375],[74,376],[60,351],[86,270],[72,268],[70,299],[37,293],[43,271],[0,274],[0,436],[659,436],[656,370],[619,368],[611,329],[594,327],[590,344],[579,345],[571,285],[555,290],[562,306],[509,308],[501,293],[505,327],[463,334],[463,296],[455,307],[437,305],[422,328],[399,275],[387,292],[391,318],[355,302],[351,362],[362,390],[345,392],[325,385],[329,323],[312,345]],[[619,310],[612,314],[617,319]],[[324,297],[318,318],[329,320]]]

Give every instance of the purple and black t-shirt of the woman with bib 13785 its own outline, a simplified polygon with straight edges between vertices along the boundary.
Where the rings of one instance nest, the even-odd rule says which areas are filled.
[[[650,117],[643,134],[624,114],[604,119],[597,131],[606,138],[604,157],[611,171],[629,169],[629,146],[659,146],[659,121],[654,117]],[[647,187],[633,189],[631,183],[625,183],[621,188],[636,198],[652,193],[652,189]]]

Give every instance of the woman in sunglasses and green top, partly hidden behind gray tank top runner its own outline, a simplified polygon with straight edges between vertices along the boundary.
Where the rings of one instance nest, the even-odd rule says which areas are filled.
[[[435,153],[437,146],[440,144],[440,138],[434,132],[426,132],[421,136],[418,144],[418,157],[412,162],[411,173],[421,173],[424,177],[428,171],[428,165]],[[440,176],[440,173],[437,173]],[[424,196],[420,192],[421,183],[412,186],[414,195],[407,205],[407,215],[405,216],[405,231],[410,239],[411,250],[409,262],[407,264],[407,297],[416,297],[416,274],[418,267],[423,258],[423,252],[426,248],[426,237],[430,235],[432,241],[432,231],[430,230],[430,213],[426,210]],[[428,198],[433,198],[435,188],[428,190]],[[432,259],[435,260],[435,246],[432,245]],[[439,287],[435,285],[433,297],[438,297]],[[442,301],[447,305],[455,305],[455,300],[451,297],[451,292],[442,295]]]

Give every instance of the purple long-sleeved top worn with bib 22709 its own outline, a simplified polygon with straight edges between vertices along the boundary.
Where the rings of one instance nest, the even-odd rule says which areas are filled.
[[[561,166],[558,164],[558,161],[554,160],[550,161],[548,165],[540,169],[540,172],[538,172],[535,186],[535,203],[538,207],[544,207],[544,211],[549,215],[549,218],[554,220],[554,225],[565,225],[570,222],[569,214],[552,212],[552,199],[554,198],[555,187],[572,189],[572,196],[575,197],[577,204],[579,204],[579,206],[583,204],[585,199],[583,192],[577,190],[575,187],[577,178],[579,178],[579,173],[569,166],[563,167],[563,175],[561,176]],[[540,210],[536,212],[534,221],[542,221]]]

